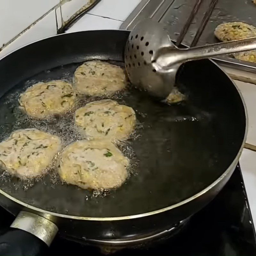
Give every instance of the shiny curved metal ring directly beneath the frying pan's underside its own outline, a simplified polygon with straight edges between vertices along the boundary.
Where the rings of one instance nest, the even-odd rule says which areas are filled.
[[[124,248],[149,248],[150,245],[164,242],[165,240],[171,238],[172,236],[179,233],[188,223],[190,217],[185,220],[165,228],[164,230],[157,230],[152,233],[143,235],[133,235],[125,237],[122,239],[108,239],[108,240],[96,240],[96,239],[86,239],[79,240],[76,242],[82,244],[89,244],[100,248],[103,254],[112,254]],[[66,237],[67,238],[67,237]],[[72,239],[73,240],[73,239]]]

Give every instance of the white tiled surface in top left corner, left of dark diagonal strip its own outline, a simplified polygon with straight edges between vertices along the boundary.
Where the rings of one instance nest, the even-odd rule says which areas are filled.
[[[26,44],[56,35],[73,15],[91,4],[93,0],[0,1],[0,58]]]

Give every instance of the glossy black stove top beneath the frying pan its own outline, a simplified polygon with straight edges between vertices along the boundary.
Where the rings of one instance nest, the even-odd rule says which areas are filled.
[[[0,209],[0,225],[12,221]],[[8,221],[6,221],[8,220]],[[101,255],[97,247],[57,237],[44,255]],[[175,236],[146,248],[122,249],[114,255],[256,255],[255,230],[240,167],[219,195],[190,218]]]

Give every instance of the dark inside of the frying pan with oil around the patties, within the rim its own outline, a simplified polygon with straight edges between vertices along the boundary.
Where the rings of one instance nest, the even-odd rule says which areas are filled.
[[[84,60],[122,61],[128,34],[105,30],[55,36],[1,60],[1,133],[15,128],[15,110],[6,99],[23,91],[26,81],[62,79],[67,74],[72,79]],[[58,180],[52,186],[51,175],[27,190],[18,179],[2,178],[0,188],[32,206],[84,217],[139,214],[195,195],[219,178],[237,156],[245,134],[245,111],[234,84],[210,60],[185,64],[178,85],[188,97],[178,105],[160,103],[135,89],[117,98],[136,110],[143,128],[129,144],[137,174],[109,195],[92,197],[92,192]],[[24,128],[31,125],[23,124]]]

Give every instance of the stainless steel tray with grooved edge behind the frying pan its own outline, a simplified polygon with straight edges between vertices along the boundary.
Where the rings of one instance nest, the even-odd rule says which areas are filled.
[[[172,39],[176,40],[181,28],[184,26],[192,11],[195,1],[196,0],[142,0],[124,21],[120,29],[131,30],[143,18],[152,18],[168,25],[167,27]],[[184,37],[183,43],[185,45],[189,46],[192,43],[210,1],[211,0],[204,0],[201,4],[187,35]],[[242,21],[256,26],[256,4],[253,4],[252,0],[219,0],[197,45],[218,42],[213,34],[214,29],[220,23],[232,21]],[[215,57],[213,59],[223,67],[256,73],[256,63],[236,60],[229,56]]]

